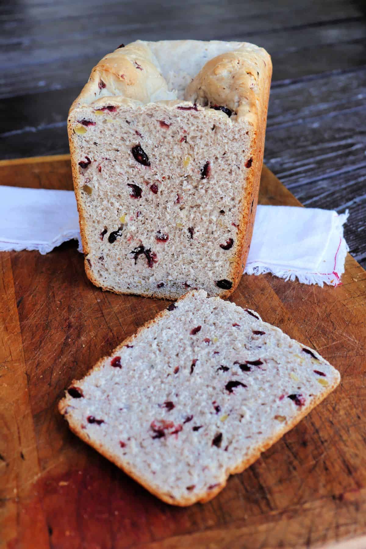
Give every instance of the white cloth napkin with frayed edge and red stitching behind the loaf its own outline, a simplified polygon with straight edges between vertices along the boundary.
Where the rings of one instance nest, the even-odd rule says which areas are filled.
[[[258,206],[245,266],[248,275],[270,272],[305,284],[340,284],[348,251],[335,211],[292,206]],[[47,254],[77,239],[82,251],[72,191],[0,186],[0,251]]]

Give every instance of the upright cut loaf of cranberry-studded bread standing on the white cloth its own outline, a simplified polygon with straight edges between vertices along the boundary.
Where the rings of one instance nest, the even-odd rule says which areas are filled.
[[[87,276],[117,293],[229,295],[243,273],[272,64],[244,42],[137,41],[106,55],[68,132]]]

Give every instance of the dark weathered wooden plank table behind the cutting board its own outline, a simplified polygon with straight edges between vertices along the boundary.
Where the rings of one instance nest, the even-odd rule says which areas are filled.
[[[305,206],[350,209],[366,266],[365,13],[365,0],[4,2],[0,159],[67,153],[67,110],[121,42],[254,42],[274,67],[264,161]]]

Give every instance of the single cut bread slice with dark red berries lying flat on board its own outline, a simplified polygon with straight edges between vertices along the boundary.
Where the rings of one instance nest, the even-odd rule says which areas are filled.
[[[74,380],[59,411],[152,494],[186,506],[211,500],[339,381],[256,312],[197,290]]]

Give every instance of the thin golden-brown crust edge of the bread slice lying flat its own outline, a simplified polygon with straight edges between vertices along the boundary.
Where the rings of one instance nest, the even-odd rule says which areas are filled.
[[[193,293],[193,292],[187,292],[187,293]],[[184,294],[179,298],[177,301],[181,301],[185,298],[187,294]],[[161,317],[169,314],[167,310],[160,311],[157,313],[157,315],[149,320],[148,322],[145,322],[143,326],[140,326],[138,328],[137,332],[133,335],[130,335],[128,338],[122,341],[120,345],[118,345],[112,352],[111,355],[116,354],[120,349],[122,349],[123,346],[131,343],[140,332],[143,332],[145,329],[149,328],[153,324],[155,324]],[[95,364],[95,366],[89,370],[89,372],[86,374],[86,376],[82,380],[72,380],[71,385],[74,385],[76,383],[79,383],[80,381],[83,381],[86,377],[90,376],[95,370],[102,367],[104,361],[109,358],[108,356],[104,356],[103,358],[100,358],[100,360]],[[128,466],[127,463],[125,463],[120,456],[117,456],[115,453],[110,452],[108,449],[106,449],[103,445],[98,444],[97,442],[92,441],[88,438],[87,433],[85,430],[83,430],[80,425],[78,425],[76,422],[72,421],[71,418],[67,418],[67,406],[70,404],[71,397],[67,395],[65,391],[65,397],[60,400],[58,404],[58,410],[63,416],[65,417],[67,423],[69,423],[69,427],[72,430],[73,433],[75,433],[77,436],[79,436],[83,441],[85,441],[89,446],[92,446],[95,450],[97,450],[99,453],[101,453],[104,457],[106,457],[109,461],[114,463],[117,467],[120,467],[126,474],[128,474],[130,477],[132,477],[134,480],[136,480],[139,484],[144,486],[145,489],[147,489],[151,494],[153,494],[156,497],[159,497],[162,501],[165,501],[166,503],[170,503],[171,505],[177,505],[181,507],[185,507],[188,505],[192,505],[193,503],[206,503],[210,500],[212,500],[213,497],[215,497],[223,488],[225,488],[227,484],[227,480],[230,477],[230,475],[242,473],[247,467],[250,467],[252,463],[254,463],[258,457],[260,457],[261,453],[268,450],[269,447],[273,446],[275,442],[277,442],[285,433],[287,433],[289,430],[291,430],[297,423],[301,421],[309,412],[313,410],[314,407],[316,407],[320,402],[322,402],[326,396],[333,391],[336,386],[339,384],[340,379],[336,379],[335,382],[331,385],[329,385],[326,390],[317,397],[313,397],[312,400],[308,402],[306,406],[303,406],[301,411],[290,421],[289,423],[285,423],[283,425],[283,428],[277,432],[274,436],[271,438],[268,438],[263,444],[257,446],[250,454],[249,456],[246,456],[246,458],[238,463],[235,467],[233,467],[230,470],[227,470],[225,472],[226,479],[222,484],[217,486],[216,489],[210,490],[209,492],[206,491],[202,494],[198,495],[192,495],[187,496],[185,498],[182,498],[181,500],[176,500],[175,498],[171,497],[168,494],[162,493],[158,489],[155,488],[155,486],[152,486],[148,483],[145,479],[140,478],[132,469]]]

